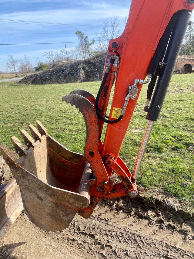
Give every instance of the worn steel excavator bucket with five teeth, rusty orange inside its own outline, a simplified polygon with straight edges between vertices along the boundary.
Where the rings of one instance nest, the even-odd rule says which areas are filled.
[[[47,231],[67,228],[79,209],[89,206],[92,178],[89,163],[83,155],[69,151],[47,134],[36,121],[37,129],[29,125],[32,137],[21,131],[26,147],[12,137],[16,155],[0,145],[2,155],[20,187],[28,218]]]

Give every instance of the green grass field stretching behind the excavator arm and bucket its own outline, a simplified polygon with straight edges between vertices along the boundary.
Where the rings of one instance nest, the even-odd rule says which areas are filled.
[[[38,119],[49,135],[62,145],[83,153],[85,123],[82,114],[61,98],[78,88],[96,96],[99,86],[100,82],[52,85],[0,83],[0,143],[5,143],[13,150],[10,138],[15,135],[22,139],[20,130],[29,132],[28,124],[35,124]],[[150,193],[158,189],[182,199],[191,211],[194,208],[193,89],[194,74],[172,76],[137,179],[138,185],[148,188]],[[146,91],[147,85],[144,85],[120,152],[131,171],[147,125],[147,113],[143,111]]]

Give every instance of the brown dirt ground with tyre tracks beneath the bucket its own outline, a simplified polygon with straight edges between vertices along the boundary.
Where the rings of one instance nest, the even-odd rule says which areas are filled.
[[[194,258],[194,222],[170,197],[102,201],[89,219],[75,216],[47,232],[24,212],[0,243],[1,259]]]

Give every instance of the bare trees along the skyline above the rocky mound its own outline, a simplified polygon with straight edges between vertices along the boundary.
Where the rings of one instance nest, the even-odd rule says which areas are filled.
[[[54,60],[57,61],[75,61],[75,60],[86,60],[92,56],[106,53],[110,39],[117,38],[120,34],[119,29],[119,20],[118,16],[114,16],[110,21],[105,20],[103,22],[103,29],[100,34],[95,33],[95,39],[89,40],[89,37],[85,35],[84,32],[76,31],[75,35],[79,39],[79,43],[76,47],[72,48],[69,51],[65,49],[60,49],[57,52],[51,50],[45,51],[42,55],[45,56],[48,60],[46,62],[41,62],[36,58],[36,66],[32,66],[32,63],[29,60],[29,57],[25,54],[22,60],[14,59],[11,54],[8,54],[8,61],[6,63],[5,70],[12,74],[15,74],[17,77],[18,71],[23,73],[25,76],[33,73],[34,71],[41,71],[47,68],[51,68],[54,64]],[[124,25],[127,22],[127,16],[125,17]],[[94,43],[97,43],[94,46]],[[194,55],[194,22],[191,22],[190,26],[187,29],[184,43],[182,44],[181,55]]]

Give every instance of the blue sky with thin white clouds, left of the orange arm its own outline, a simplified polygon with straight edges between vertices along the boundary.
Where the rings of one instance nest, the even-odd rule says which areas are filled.
[[[110,21],[112,16],[119,16],[122,32],[130,3],[130,0],[0,0],[1,44],[61,43],[0,45],[0,70],[5,71],[8,54],[18,60],[27,54],[35,66],[36,57],[42,62],[48,61],[42,56],[45,51],[59,51],[65,48],[65,44],[67,50],[72,49],[78,44],[75,35],[77,30],[84,32],[92,40],[95,33],[102,32],[103,21]]]

